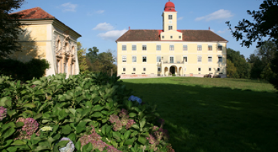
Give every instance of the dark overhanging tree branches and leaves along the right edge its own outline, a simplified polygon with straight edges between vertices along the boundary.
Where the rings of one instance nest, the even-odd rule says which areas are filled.
[[[268,41],[273,41],[278,46],[278,0],[264,0],[260,5],[258,11],[247,10],[249,15],[252,15],[254,21],[243,21],[238,22],[238,26],[235,27],[235,31],[232,30],[231,24],[227,21],[233,37],[237,41],[241,41],[242,46],[250,47],[253,42],[257,42],[257,47],[263,45],[263,38]],[[275,58],[272,59],[271,69],[275,73],[275,77],[270,79],[275,88],[278,88],[278,53],[275,53]]]

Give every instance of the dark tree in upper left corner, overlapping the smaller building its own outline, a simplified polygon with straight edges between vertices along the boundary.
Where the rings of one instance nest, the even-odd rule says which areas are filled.
[[[17,42],[19,34],[24,32],[19,19],[23,15],[10,14],[14,9],[21,8],[24,0],[0,1],[0,58],[8,57],[13,51],[20,51],[21,46]]]

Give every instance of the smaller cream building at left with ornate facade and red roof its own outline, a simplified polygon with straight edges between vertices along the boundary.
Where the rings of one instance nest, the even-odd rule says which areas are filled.
[[[10,58],[22,62],[32,58],[47,59],[50,68],[46,76],[79,74],[77,39],[81,35],[78,32],[39,7],[14,13],[24,15],[19,21],[25,32],[19,35],[22,52],[13,53]]]

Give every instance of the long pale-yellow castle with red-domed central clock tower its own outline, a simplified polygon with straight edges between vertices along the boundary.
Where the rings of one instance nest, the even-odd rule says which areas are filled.
[[[180,75],[226,77],[227,40],[211,30],[177,30],[177,11],[168,1],[162,30],[128,30],[117,43],[121,78]]]

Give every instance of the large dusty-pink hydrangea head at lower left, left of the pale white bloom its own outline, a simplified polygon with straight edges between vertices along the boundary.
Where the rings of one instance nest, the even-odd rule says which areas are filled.
[[[22,126],[22,129],[17,129],[17,133],[19,133],[19,136],[15,138],[16,140],[22,140],[22,139],[31,139],[31,136],[35,131],[38,129],[38,122],[35,121],[33,118],[23,118],[19,117],[17,122],[24,122],[24,126]]]

